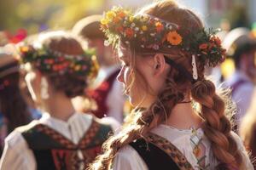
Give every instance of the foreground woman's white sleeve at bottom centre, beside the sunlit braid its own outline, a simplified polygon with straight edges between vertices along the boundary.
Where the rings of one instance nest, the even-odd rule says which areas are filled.
[[[115,156],[113,170],[148,170],[148,167],[137,151],[126,145]]]

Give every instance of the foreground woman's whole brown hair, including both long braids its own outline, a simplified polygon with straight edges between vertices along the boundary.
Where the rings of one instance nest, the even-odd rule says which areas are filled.
[[[140,14],[149,14],[181,26],[182,36],[186,33],[199,31],[203,28],[201,20],[188,8],[181,8],[172,0],[164,0],[153,3],[147,8],[139,11]],[[137,78],[142,76],[137,68],[135,55],[143,56],[144,53],[156,54],[154,51],[145,50],[139,44],[130,44],[129,50],[135,52],[131,55],[131,77]],[[182,65],[184,69],[192,72],[191,55],[179,48],[160,48],[157,53],[165,54],[174,60],[178,65]],[[185,95],[190,94],[192,99],[200,105],[200,116],[204,122],[202,129],[207,139],[212,144],[212,152],[218,159],[219,164],[216,169],[242,169],[241,153],[237,149],[235,139],[231,135],[231,123],[225,116],[225,101],[216,92],[214,84],[204,77],[204,67],[197,62],[198,81],[192,83],[183,73],[177,71],[171,66],[171,71],[166,77],[166,86],[162,89],[154,103],[145,111],[131,114],[133,116],[129,120],[131,123],[123,127],[122,131],[108,139],[103,144],[104,153],[96,158],[96,161],[90,166],[90,169],[108,169],[111,167],[113,158],[117,151],[130,144],[133,140],[142,138],[147,135],[148,131],[166,121],[166,117],[170,116],[172,109],[177,103],[183,101]],[[132,84],[130,84],[130,87]],[[156,123],[155,123],[156,122]]]

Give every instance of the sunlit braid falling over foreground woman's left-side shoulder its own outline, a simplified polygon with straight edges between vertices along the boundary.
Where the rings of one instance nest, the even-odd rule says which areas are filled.
[[[170,74],[177,71],[170,71]],[[177,102],[183,100],[183,94],[177,91],[177,84],[168,76],[166,88],[158,95],[158,99],[145,111],[132,114],[129,119],[134,120],[124,127],[117,135],[109,138],[103,145],[103,154],[97,156],[88,169],[105,170],[111,167],[113,158],[118,150],[133,140],[143,138],[152,128],[164,122]],[[156,122],[156,123],[154,123]]]

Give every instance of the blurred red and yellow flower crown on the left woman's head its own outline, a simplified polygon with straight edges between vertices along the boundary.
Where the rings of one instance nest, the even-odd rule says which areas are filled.
[[[98,63],[89,49],[82,55],[62,54],[47,47],[20,46],[21,64],[32,63],[39,71],[48,74],[75,74],[79,77],[96,77]]]

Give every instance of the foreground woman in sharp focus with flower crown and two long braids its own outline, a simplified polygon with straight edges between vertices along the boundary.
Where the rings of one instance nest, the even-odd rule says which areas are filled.
[[[171,0],[137,14],[115,7],[102,30],[118,49],[118,80],[139,111],[103,144],[90,169],[253,169],[231,131],[229,102],[204,77],[205,67],[224,60],[214,31]]]

